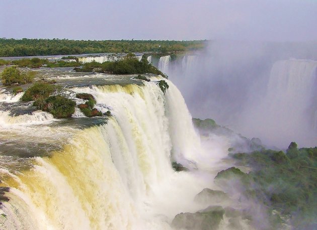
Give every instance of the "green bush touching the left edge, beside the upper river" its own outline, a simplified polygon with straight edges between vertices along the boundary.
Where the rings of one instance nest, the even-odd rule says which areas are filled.
[[[16,66],[7,67],[0,74],[2,83],[4,85],[13,85],[13,84],[26,84],[32,82],[34,76],[36,75],[35,71],[28,71],[26,73],[20,72]]]

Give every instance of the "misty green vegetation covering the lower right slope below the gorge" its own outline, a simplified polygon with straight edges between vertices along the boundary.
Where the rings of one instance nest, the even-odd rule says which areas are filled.
[[[219,172],[216,181],[230,177],[242,181],[244,197],[264,204],[268,210],[277,210],[282,216],[289,216],[295,228],[308,226],[310,229],[309,224],[317,218],[317,147],[298,149],[293,142],[286,154],[262,150],[231,156],[237,164],[251,167],[250,173],[232,167]],[[222,183],[225,188],[229,188],[229,184]],[[279,224],[277,216],[270,214],[269,217]]]

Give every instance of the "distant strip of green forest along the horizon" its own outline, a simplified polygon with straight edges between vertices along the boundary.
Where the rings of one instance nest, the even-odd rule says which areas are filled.
[[[205,41],[75,41],[67,39],[0,39],[0,57],[92,53],[181,52],[202,49]]]

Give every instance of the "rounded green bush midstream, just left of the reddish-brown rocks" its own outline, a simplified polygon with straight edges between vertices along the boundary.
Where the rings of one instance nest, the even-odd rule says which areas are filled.
[[[64,96],[49,96],[45,102],[43,110],[52,113],[54,118],[69,118],[75,112],[76,103]]]

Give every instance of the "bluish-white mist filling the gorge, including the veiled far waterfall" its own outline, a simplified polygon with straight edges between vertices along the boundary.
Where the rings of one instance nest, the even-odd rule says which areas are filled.
[[[171,64],[194,118],[285,148],[315,146],[317,43],[211,41],[184,68]]]

